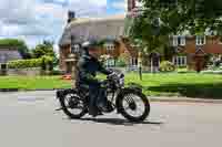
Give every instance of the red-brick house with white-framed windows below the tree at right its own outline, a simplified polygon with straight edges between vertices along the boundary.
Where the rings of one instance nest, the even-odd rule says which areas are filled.
[[[222,42],[220,36],[191,36],[174,35],[171,38],[171,45],[178,52],[172,62],[178,66],[188,65],[189,69],[200,70],[206,65],[208,56],[214,59],[222,55]]]

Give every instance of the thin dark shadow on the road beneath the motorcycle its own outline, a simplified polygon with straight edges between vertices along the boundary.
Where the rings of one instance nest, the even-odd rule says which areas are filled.
[[[110,124],[110,125],[124,125],[124,126],[133,126],[138,124],[152,124],[152,125],[161,125],[162,122],[140,122],[132,123],[123,118],[81,118],[80,120],[91,120],[94,123]]]

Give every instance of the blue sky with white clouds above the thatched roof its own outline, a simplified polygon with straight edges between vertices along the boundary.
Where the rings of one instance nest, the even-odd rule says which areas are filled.
[[[22,39],[30,48],[51,40],[58,43],[68,10],[77,17],[124,13],[127,0],[0,0],[0,39]]]

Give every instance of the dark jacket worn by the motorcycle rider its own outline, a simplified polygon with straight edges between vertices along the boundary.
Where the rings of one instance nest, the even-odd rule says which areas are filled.
[[[107,75],[111,74],[111,71],[104,69],[98,59],[91,56],[89,53],[84,53],[78,62],[77,84],[98,84],[99,81],[95,78],[97,72]]]

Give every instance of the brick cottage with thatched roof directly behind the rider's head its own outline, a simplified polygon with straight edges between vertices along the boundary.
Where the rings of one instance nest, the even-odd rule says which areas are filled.
[[[121,54],[127,54],[129,64],[137,65],[137,52],[131,50],[124,42],[124,14],[111,15],[107,18],[73,18],[64,29],[60,40],[60,69],[67,73],[71,72],[72,64],[69,55],[71,53],[71,35],[74,41],[81,43],[83,41],[95,39],[104,41],[104,45],[99,49],[100,54],[109,54],[108,64],[115,64]]]

